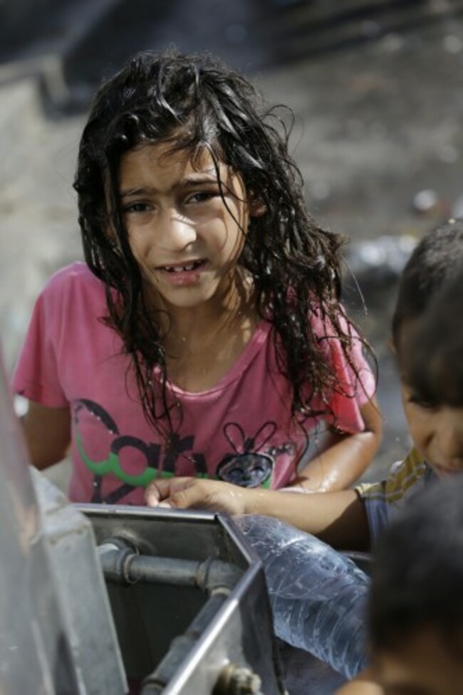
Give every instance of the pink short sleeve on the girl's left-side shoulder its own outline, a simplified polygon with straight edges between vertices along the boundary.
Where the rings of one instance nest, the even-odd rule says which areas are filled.
[[[38,297],[11,380],[14,393],[48,407],[67,404],[58,371],[60,317],[51,288]]]

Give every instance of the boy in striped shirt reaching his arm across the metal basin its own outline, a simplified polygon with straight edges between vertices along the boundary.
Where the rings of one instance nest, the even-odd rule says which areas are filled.
[[[459,310],[447,320],[447,332],[441,328],[435,333],[434,319],[431,317],[430,321],[427,316],[433,303],[439,301],[442,288],[457,278],[462,267],[463,221],[453,220],[423,237],[402,273],[392,321],[392,340],[400,370],[405,416],[415,446],[404,461],[392,466],[387,479],[310,498],[293,496],[292,505],[284,509],[281,493],[279,496],[268,493],[256,500],[247,490],[242,490],[239,496],[233,497],[223,483],[208,481],[205,486],[205,481],[192,479],[156,481],[147,492],[148,501],[155,505],[164,501],[161,503],[177,507],[207,506],[231,513],[277,516],[318,535],[335,548],[370,548],[397,513],[432,481],[463,471],[463,390],[459,394],[454,389],[450,393],[444,390],[441,374],[435,370],[431,372],[434,373],[435,392],[430,399],[415,383],[416,370],[412,368],[414,355],[420,353],[416,345],[413,346],[415,339],[421,346],[423,370],[426,371],[425,365],[440,364],[446,367],[447,374],[462,373],[463,340],[459,326],[459,317],[463,315],[462,295],[454,293],[451,308],[459,301]],[[443,314],[442,309],[441,306],[434,312]],[[415,338],[420,325],[427,327],[433,335],[432,341],[423,342],[419,334]],[[425,350],[427,344],[432,345],[432,355]],[[452,362],[449,346],[452,346]],[[437,353],[446,355],[445,360],[439,361]]]

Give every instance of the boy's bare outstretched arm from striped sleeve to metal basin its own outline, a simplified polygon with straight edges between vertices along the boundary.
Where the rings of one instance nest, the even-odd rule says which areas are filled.
[[[370,545],[365,505],[353,490],[296,495],[210,479],[170,478],[153,481],[145,499],[149,506],[273,516],[335,548],[368,550]]]

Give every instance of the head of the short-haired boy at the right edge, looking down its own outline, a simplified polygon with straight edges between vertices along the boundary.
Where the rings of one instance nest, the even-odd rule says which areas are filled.
[[[410,434],[420,454],[441,477],[463,469],[463,390],[455,389],[455,382],[452,390],[448,386],[449,374],[462,370],[463,336],[458,317],[463,299],[459,294],[449,305],[448,298],[442,296],[444,286],[456,281],[462,267],[463,222],[450,221],[427,234],[410,257],[392,321]],[[459,302],[459,309],[455,302]],[[444,323],[437,321],[438,315]],[[441,374],[437,374],[438,369]],[[432,374],[434,388],[430,390],[427,375]]]

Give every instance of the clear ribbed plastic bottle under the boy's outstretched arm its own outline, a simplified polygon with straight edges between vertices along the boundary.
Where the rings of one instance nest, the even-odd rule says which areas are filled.
[[[264,565],[276,636],[345,678],[367,667],[368,576],[331,546],[278,519],[250,515],[238,523]]]

